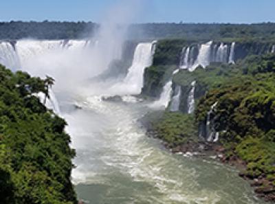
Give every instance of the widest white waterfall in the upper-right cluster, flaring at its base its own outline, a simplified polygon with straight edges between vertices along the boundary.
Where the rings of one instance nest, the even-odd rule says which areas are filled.
[[[192,67],[189,68],[189,71],[194,71],[199,65],[205,68],[210,64],[210,53],[212,43],[212,41],[209,41],[208,43],[201,44],[197,60],[195,61],[194,65],[192,65]]]

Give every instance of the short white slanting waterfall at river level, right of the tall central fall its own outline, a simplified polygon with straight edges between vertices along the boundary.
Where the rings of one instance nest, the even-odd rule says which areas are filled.
[[[163,87],[162,93],[160,94],[159,100],[151,104],[152,108],[166,108],[170,102],[172,93],[172,80],[169,80]]]

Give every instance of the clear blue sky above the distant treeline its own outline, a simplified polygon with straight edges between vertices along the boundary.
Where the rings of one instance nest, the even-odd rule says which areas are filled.
[[[275,21],[275,0],[0,0],[0,21],[94,21],[130,4],[135,23]],[[131,5],[138,1],[139,6]],[[138,9],[140,8],[140,9]],[[131,11],[131,12],[132,12]],[[120,11],[121,12],[121,11]],[[113,12],[113,18],[116,13]]]

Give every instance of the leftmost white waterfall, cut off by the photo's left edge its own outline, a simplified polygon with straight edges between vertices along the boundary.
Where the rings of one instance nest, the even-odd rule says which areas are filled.
[[[20,67],[17,52],[9,42],[0,42],[0,64],[12,70],[19,69]]]

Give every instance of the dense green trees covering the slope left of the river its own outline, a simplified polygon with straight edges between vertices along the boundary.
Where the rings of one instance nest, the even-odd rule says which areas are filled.
[[[53,82],[0,65],[1,203],[76,203],[66,122],[34,96]]]

